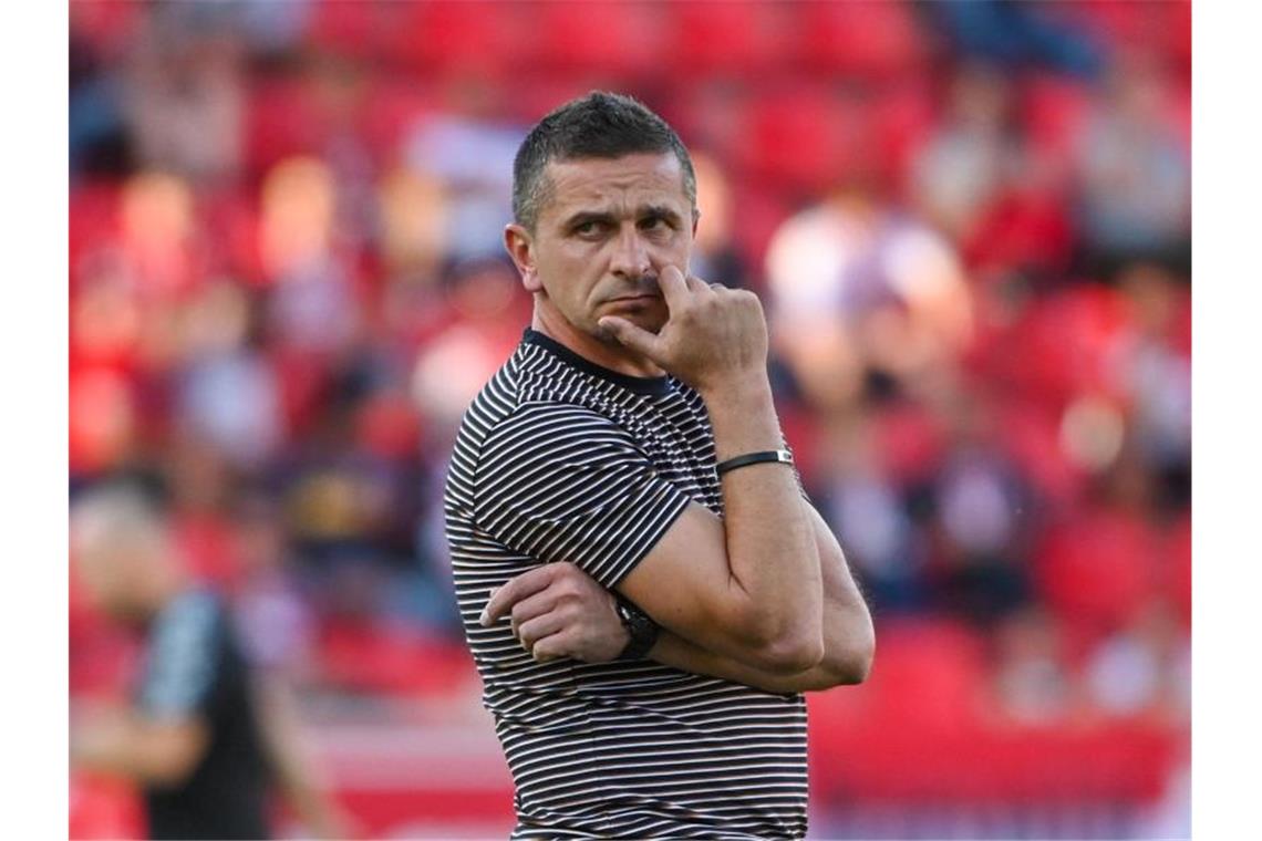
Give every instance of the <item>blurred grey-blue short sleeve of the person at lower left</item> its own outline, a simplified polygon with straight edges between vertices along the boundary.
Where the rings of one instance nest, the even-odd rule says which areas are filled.
[[[215,598],[189,593],[159,617],[140,687],[140,709],[154,719],[206,711],[215,685],[218,610]]]

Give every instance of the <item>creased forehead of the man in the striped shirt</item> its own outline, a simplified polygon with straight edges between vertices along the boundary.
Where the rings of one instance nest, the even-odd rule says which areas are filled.
[[[654,193],[658,200],[688,202],[683,168],[671,151],[550,160],[544,178],[555,203],[610,200],[627,193]]]

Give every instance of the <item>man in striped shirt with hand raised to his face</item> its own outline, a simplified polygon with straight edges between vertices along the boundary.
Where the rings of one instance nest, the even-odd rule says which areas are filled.
[[[514,837],[801,837],[800,692],[862,681],[873,634],[784,450],[758,300],[689,276],[688,151],[628,97],[531,130],[514,216],[534,318],[445,498]]]

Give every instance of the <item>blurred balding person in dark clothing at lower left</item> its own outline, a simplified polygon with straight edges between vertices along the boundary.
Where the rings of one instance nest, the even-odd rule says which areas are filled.
[[[270,837],[276,787],[313,833],[345,837],[284,690],[256,673],[223,603],[188,576],[156,507],[98,487],[74,501],[71,525],[85,591],[146,642],[130,705],[73,710],[73,767],[135,782],[154,838]]]

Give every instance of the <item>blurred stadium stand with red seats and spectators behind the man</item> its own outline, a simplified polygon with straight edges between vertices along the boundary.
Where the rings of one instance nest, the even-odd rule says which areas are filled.
[[[129,477],[374,837],[504,837],[451,593],[530,125],[637,96],[871,598],[811,835],[1186,837],[1190,4],[69,4],[69,492]],[[72,696],[135,641],[72,580]],[[283,833],[297,825],[278,815]],[[144,832],[71,780],[71,836]],[[286,828],[288,827],[288,828]]]

